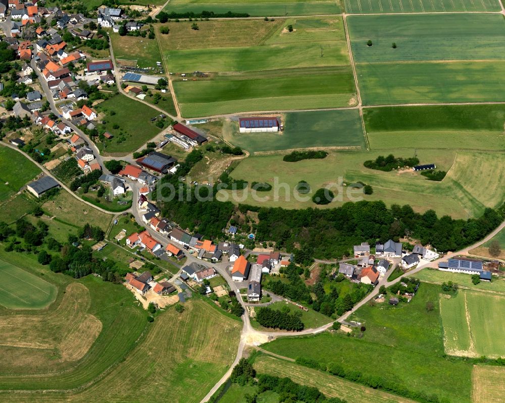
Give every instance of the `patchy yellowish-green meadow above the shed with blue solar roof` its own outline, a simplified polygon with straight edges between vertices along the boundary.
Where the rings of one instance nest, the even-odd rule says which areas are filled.
[[[110,33],[114,57],[116,59],[136,60],[141,68],[156,67],[161,62],[160,47],[156,39],[141,36],[121,36]]]

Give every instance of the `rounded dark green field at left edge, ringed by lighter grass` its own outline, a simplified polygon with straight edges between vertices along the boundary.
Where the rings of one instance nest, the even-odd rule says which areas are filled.
[[[11,309],[42,309],[51,304],[58,289],[11,263],[0,260],[0,305]]]

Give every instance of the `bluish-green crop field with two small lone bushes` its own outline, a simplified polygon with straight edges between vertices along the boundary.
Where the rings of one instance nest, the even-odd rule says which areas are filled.
[[[498,14],[351,16],[347,26],[357,63],[503,60],[505,52]]]

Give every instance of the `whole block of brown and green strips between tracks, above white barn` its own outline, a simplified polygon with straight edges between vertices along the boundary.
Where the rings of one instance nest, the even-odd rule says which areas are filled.
[[[210,72],[174,76],[185,117],[356,103],[341,17],[211,20],[198,22],[198,30],[190,24],[171,24],[159,35],[170,71]]]

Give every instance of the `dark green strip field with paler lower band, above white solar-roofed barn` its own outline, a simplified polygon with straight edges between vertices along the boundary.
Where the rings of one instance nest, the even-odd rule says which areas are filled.
[[[212,80],[200,81],[178,79],[174,81],[174,89],[185,117],[356,103],[348,66],[220,74]]]

